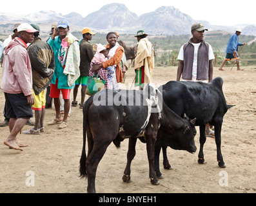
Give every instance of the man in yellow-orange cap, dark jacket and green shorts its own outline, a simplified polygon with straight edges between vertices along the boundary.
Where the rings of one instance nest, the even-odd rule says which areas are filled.
[[[90,76],[90,63],[92,58],[94,58],[94,50],[92,48],[92,44],[88,41],[92,41],[92,35],[95,35],[90,28],[84,28],[82,31],[83,39],[80,42],[80,77],[75,81],[75,88],[74,88],[74,100],[72,102],[72,106],[77,106],[77,92],[80,84],[82,85],[81,88],[81,103],[79,104],[79,108],[83,109],[85,92],[87,87],[87,77]]]

